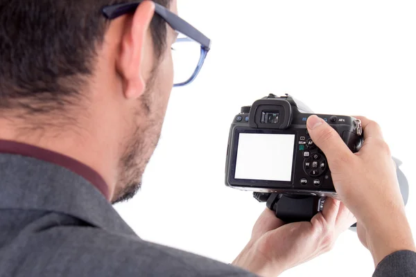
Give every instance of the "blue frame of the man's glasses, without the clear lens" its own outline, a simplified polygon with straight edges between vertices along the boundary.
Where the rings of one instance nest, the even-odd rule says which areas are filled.
[[[120,17],[121,15],[125,15],[129,12],[134,12],[137,7],[142,3],[143,1],[148,0],[139,0],[134,3],[120,3],[110,6],[105,6],[102,10],[103,15],[107,19],[115,19],[117,17]],[[183,35],[186,35],[185,38],[177,39],[177,41],[187,41],[189,39],[193,40],[194,42],[198,42],[201,46],[201,55],[200,60],[198,62],[198,65],[196,66],[195,71],[191,75],[191,78],[189,78],[185,82],[181,82],[179,84],[173,84],[173,87],[183,87],[184,85],[190,84],[193,82],[193,80],[196,79],[198,76],[198,73],[200,73],[200,70],[202,68],[202,65],[205,62],[205,58],[207,57],[207,54],[209,50],[211,49],[211,39],[206,37],[204,34],[202,34],[199,30],[194,28],[191,24],[189,24],[187,21],[184,21],[184,19],[178,17],[173,12],[168,10],[162,5],[159,5],[158,3],[155,3],[155,13],[162,17],[164,21],[166,21],[173,30],[175,30],[177,33],[181,33]]]

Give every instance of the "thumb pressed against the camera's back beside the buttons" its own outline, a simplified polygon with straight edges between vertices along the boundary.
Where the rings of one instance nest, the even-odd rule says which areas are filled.
[[[315,145],[324,152],[332,172],[338,171],[345,163],[354,159],[354,154],[333,127],[318,116],[309,116],[306,123],[309,135]]]

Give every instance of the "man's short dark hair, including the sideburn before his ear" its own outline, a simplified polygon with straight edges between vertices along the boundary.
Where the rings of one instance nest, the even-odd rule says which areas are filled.
[[[170,0],[154,0],[167,7]],[[96,48],[108,21],[101,8],[119,0],[0,0],[0,116],[62,111],[83,98]],[[166,23],[151,23],[156,57],[166,47]]]

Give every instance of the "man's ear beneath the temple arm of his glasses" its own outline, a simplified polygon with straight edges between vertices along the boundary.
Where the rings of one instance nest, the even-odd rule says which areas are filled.
[[[155,3],[144,1],[139,4],[131,19],[125,20],[125,30],[121,38],[121,49],[117,67],[123,77],[125,98],[139,98],[146,90],[144,72],[151,70],[153,57],[149,45],[150,22],[155,13]],[[147,60],[147,61],[146,61]],[[151,60],[153,61],[153,59]]]

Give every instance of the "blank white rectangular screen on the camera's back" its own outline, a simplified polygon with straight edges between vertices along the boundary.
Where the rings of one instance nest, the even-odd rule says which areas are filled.
[[[240,133],[235,179],[291,181],[294,134]]]

